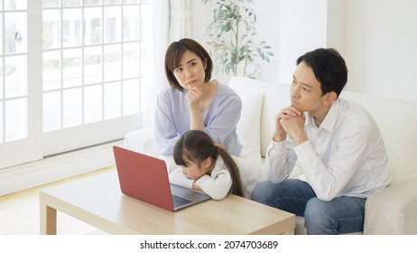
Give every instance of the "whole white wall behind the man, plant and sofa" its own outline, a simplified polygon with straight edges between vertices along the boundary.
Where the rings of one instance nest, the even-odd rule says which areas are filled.
[[[215,3],[192,2],[192,37],[204,44]],[[346,89],[417,101],[417,1],[256,0],[253,8],[256,40],[275,55],[264,80],[289,83],[298,56],[335,47],[347,61]]]

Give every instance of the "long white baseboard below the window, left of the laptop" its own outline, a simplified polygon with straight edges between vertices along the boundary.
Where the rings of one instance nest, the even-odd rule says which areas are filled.
[[[123,140],[0,170],[0,196],[113,166],[113,145]]]

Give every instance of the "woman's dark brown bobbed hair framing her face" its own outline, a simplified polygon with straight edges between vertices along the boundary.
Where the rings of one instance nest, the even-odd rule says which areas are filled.
[[[182,55],[186,51],[194,52],[195,54],[197,54],[197,56],[199,56],[199,59],[201,59],[203,63],[207,64],[205,70],[206,77],[204,78],[205,82],[208,82],[211,79],[211,71],[213,70],[213,61],[211,61],[209,52],[207,52],[199,44],[199,42],[196,42],[188,38],[181,39],[178,42],[172,42],[165,52],[165,75],[170,85],[173,88],[179,89],[181,91],[183,90],[183,88],[178,82],[178,80],[175,78],[172,71],[175,70],[175,68],[177,68],[178,65],[180,65]]]

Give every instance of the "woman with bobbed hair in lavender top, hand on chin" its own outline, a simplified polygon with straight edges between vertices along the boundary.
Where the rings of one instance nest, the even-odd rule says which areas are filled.
[[[191,39],[172,42],[165,53],[165,75],[155,111],[155,135],[162,158],[172,168],[173,147],[189,130],[206,132],[220,147],[240,156],[236,134],[242,101],[233,89],[211,79],[209,53]],[[173,166],[172,166],[173,165]]]

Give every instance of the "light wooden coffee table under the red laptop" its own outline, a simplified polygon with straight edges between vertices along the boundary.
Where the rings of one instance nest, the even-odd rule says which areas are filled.
[[[171,212],[125,196],[116,172],[40,192],[41,234],[56,234],[57,211],[109,234],[293,234],[295,216],[236,195]]]

